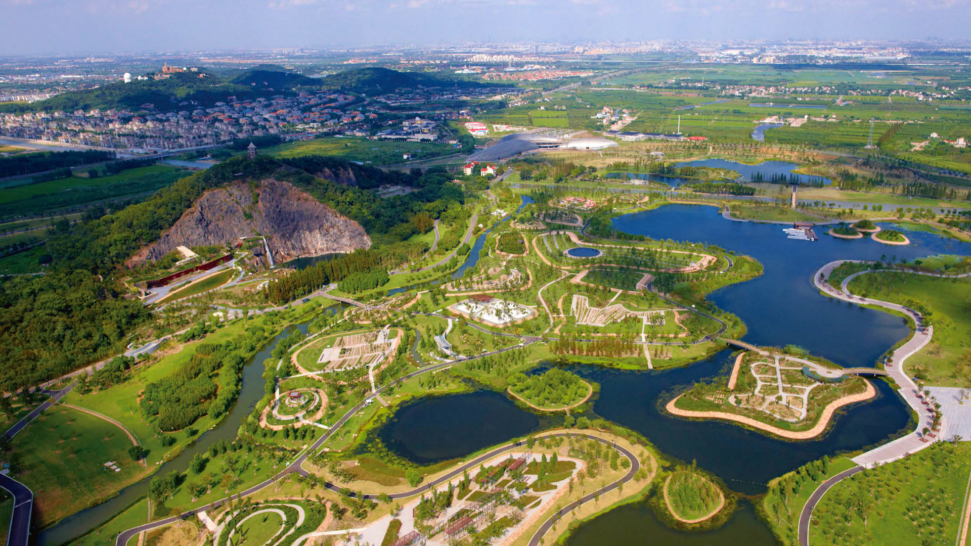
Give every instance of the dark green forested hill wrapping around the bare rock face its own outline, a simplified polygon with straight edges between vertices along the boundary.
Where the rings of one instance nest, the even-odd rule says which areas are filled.
[[[124,262],[157,240],[207,189],[266,179],[289,182],[358,222],[373,242],[367,252],[383,267],[420,256],[424,248],[407,240],[430,229],[431,219],[464,214],[464,195],[445,171],[385,172],[333,157],[257,156],[230,159],[101,218],[60,222],[48,242],[53,262],[45,275],[0,278],[0,389],[33,386],[120,353],[151,322],[141,302],[124,297],[127,290],[118,281]],[[382,184],[416,190],[380,198],[364,188]]]

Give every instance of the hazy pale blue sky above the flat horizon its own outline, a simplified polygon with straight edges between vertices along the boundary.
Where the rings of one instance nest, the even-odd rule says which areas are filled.
[[[0,55],[971,38],[971,0],[0,0]]]

